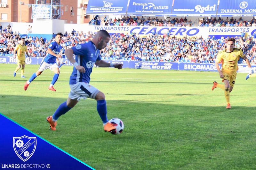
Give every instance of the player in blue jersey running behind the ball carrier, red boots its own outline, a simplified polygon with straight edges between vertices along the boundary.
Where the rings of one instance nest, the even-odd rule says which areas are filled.
[[[60,69],[58,65],[56,64],[56,58],[61,58],[60,50],[62,49],[60,42],[62,39],[62,33],[57,33],[55,36],[55,41],[53,41],[48,49],[47,49],[47,55],[42,60],[42,63],[39,66],[39,69],[30,77],[30,79],[26,82],[24,85],[24,90],[28,89],[28,85],[33,81],[37,76],[42,74],[44,70],[51,69],[55,74],[52,78],[52,83],[49,86],[49,90],[55,92],[56,90],[53,88],[53,85],[58,80]]]

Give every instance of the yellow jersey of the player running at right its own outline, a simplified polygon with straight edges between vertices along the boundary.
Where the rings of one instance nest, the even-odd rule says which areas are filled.
[[[230,53],[226,49],[220,51],[215,62],[222,63],[222,69],[226,72],[234,73],[238,70],[237,62],[239,57],[244,57],[244,53],[239,48],[234,48]]]

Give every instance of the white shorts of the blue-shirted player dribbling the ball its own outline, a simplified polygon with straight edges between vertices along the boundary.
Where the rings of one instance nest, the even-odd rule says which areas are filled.
[[[73,100],[79,101],[80,99],[95,99],[95,96],[98,94],[99,90],[91,86],[88,83],[78,82],[75,85],[69,85],[71,91],[68,94],[68,97]]]

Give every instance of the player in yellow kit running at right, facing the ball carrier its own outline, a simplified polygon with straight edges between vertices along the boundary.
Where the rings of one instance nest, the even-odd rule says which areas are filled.
[[[224,85],[218,84],[216,81],[214,81],[212,86],[212,90],[216,87],[224,90],[225,98],[227,100],[226,108],[229,109],[231,108],[229,97],[230,92],[232,91],[236,81],[236,71],[238,70],[237,62],[239,60],[239,57],[243,58],[246,61],[248,67],[251,68],[251,65],[247,57],[244,55],[243,51],[239,48],[234,48],[234,45],[235,39],[230,38],[226,43],[227,48],[218,53],[217,59],[215,60],[215,66],[220,74],[220,78],[222,78],[222,82],[224,82]],[[221,70],[219,67],[219,63],[222,64]],[[252,69],[250,73],[253,73]]]

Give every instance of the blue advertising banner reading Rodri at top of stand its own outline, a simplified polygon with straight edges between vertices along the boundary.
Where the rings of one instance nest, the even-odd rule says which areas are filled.
[[[174,0],[172,16],[216,15],[218,0]]]

